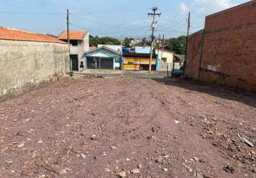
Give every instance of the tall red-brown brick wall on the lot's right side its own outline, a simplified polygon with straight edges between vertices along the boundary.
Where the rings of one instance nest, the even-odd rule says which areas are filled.
[[[188,78],[256,90],[255,69],[256,1],[207,16],[205,30],[189,36]]]

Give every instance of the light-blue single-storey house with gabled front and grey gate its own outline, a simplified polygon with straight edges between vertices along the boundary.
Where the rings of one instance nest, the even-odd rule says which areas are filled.
[[[87,69],[112,69],[119,70],[122,63],[122,54],[119,51],[114,51],[107,46],[100,46],[91,51],[84,53],[85,65]]]

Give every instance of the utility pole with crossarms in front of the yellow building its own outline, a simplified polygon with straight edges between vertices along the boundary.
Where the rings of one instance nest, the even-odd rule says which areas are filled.
[[[155,21],[156,16],[161,16],[160,14],[157,14],[157,7],[153,7],[152,11],[153,13],[148,13],[149,16],[153,17],[153,21],[152,21],[152,34],[151,34],[151,48],[150,48],[150,59],[149,59],[149,73],[151,73],[151,69],[152,69],[152,56],[153,56],[153,49],[154,49],[154,31],[157,28],[157,21]]]

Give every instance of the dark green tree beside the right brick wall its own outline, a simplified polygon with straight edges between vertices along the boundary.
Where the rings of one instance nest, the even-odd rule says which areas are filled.
[[[176,51],[180,55],[186,53],[186,36],[179,36],[178,38],[169,38],[165,48]]]

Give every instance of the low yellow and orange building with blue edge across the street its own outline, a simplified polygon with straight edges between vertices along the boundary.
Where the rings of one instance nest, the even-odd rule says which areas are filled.
[[[149,70],[149,53],[126,53],[123,56],[124,70]],[[152,70],[158,69],[157,55],[152,56]]]

